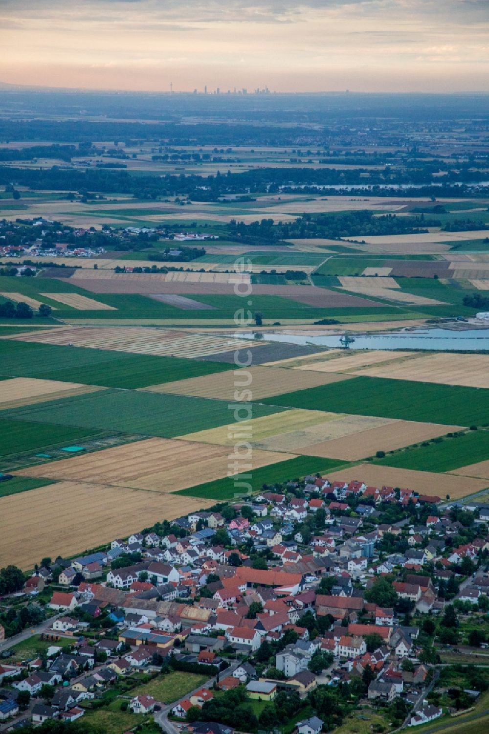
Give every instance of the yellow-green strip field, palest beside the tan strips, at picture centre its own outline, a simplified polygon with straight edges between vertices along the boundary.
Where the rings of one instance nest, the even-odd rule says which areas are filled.
[[[245,441],[257,442],[278,434],[302,430],[335,420],[339,413],[323,413],[322,410],[286,410],[283,413],[252,418],[231,426],[219,426],[206,431],[198,431],[179,436],[181,440],[218,443],[220,446],[233,446],[236,437]]]

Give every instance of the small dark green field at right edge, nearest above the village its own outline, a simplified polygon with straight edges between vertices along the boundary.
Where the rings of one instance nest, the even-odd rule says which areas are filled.
[[[444,438],[441,443],[405,448],[376,464],[421,471],[451,471],[489,459],[489,431],[469,431],[463,436]]]

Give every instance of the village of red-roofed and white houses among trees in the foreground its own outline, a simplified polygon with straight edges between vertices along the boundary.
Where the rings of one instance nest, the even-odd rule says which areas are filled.
[[[308,476],[42,559],[0,601],[0,730],[104,713],[121,732],[380,733],[471,711],[488,522],[485,504]]]

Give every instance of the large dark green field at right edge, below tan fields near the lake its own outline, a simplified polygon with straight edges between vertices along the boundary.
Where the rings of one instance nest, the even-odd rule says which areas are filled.
[[[352,377],[270,397],[264,402],[459,426],[480,426],[489,421],[489,390],[381,377]]]

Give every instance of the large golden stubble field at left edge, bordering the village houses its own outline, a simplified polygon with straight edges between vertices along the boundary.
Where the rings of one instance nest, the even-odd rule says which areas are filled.
[[[54,558],[83,553],[156,520],[173,520],[182,511],[211,504],[214,500],[186,497],[183,506],[181,497],[104,484],[48,484],[0,498],[1,563],[27,570],[39,562],[39,554]]]

